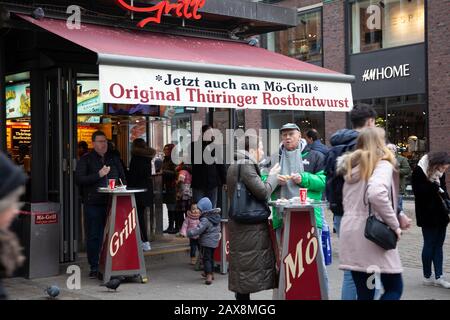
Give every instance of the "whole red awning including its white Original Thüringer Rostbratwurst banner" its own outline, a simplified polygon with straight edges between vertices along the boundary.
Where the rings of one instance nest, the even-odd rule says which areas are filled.
[[[354,77],[247,43],[21,18],[98,55],[100,101],[350,111]]]

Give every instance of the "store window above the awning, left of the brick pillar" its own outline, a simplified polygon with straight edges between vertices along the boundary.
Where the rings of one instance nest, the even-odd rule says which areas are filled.
[[[267,48],[322,66],[322,9],[299,13],[295,28],[267,35]]]

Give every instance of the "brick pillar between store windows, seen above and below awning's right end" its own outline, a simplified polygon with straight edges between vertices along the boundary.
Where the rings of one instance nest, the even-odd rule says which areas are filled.
[[[323,5],[324,67],[345,73],[344,1],[327,1]],[[345,127],[347,113],[325,112],[325,139]]]

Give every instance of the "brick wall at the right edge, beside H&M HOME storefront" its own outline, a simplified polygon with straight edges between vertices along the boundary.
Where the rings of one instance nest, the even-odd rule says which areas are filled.
[[[430,151],[450,152],[450,1],[428,1],[428,113]],[[447,188],[450,189],[450,172]]]

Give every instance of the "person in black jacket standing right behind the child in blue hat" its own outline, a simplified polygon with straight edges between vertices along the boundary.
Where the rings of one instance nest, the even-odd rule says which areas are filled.
[[[191,163],[192,163],[192,191],[193,201],[198,202],[201,198],[207,197],[211,200],[213,207],[217,206],[217,195],[222,187],[226,183],[226,170],[222,163],[214,162],[208,164],[205,162],[203,155],[208,153],[205,149],[211,148],[211,156],[215,156],[215,150],[213,150],[214,137],[211,134],[211,126],[204,125],[202,127],[202,136],[193,144],[191,149]],[[201,148],[199,146],[201,144]],[[222,146],[217,146],[222,147]],[[197,163],[195,160],[200,159],[199,155],[195,155],[195,151],[201,150],[201,162]]]

